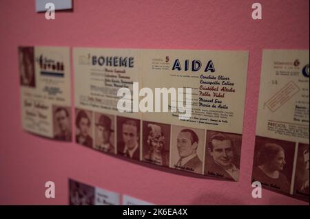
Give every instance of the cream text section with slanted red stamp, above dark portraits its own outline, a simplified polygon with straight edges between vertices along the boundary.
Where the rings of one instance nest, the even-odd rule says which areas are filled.
[[[263,51],[256,135],[309,143],[309,50]]]

